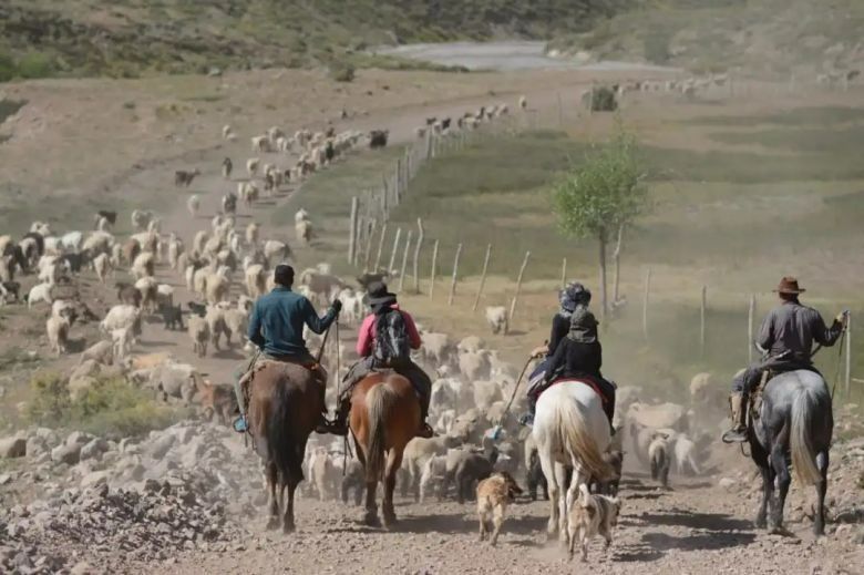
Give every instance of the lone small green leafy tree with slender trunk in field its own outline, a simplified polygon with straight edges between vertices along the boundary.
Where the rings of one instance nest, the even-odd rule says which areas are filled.
[[[600,302],[609,311],[606,251],[647,206],[647,188],[636,138],[621,127],[606,144],[595,146],[582,164],[562,174],[553,186],[553,209],[562,230],[575,238],[597,238]],[[619,250],[616,250],[619,251]]]

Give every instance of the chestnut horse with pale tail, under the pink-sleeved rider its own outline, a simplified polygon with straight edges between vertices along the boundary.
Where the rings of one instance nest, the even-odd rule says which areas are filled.
[[[357,455],[366,468],[367,525],[378,525],[376,491],[384,483],[382,515],[384,526],[395,523],[393,487],[402,465],[402,452],[420,428],[420,401],[404,377],[372,373],[357,384],[351,394],[349,415],[351,433],[358,445]]]

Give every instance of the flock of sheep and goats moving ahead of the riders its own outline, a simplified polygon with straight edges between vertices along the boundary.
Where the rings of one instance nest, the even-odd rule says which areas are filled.
[[[524,96],[517,105],[526,107]],[[507,113],[506,104],[484,106],[457,117],[455,126],[449,117],[428,119],[416,135],[473,129]],[[226,141],[236,140],[230,126],[225,126],[222,135]],[[263,237],[261,226],[254,220],[238,228],[238,202],[253,206],[261,192],[276,195],[285,185],[301,182],[361,142],[368,142],[370,147],[387,145],[388,135],[387,131],[367,135],[357,131],[337,133],[330,129],[318,133],[301,130],[287,136],[282,130],[271,127],[251,137],[254,153],[259,155],[247,160],[248,177],[238,181],[236,193],[230,191],[222,197],[220,212],[204,229],[194,233],[188,244],[173,232],[164,234],[161,219],[144,209],[132,212],[134,233],[126,238],[113,234],[117,214],[110,211],[94,215],[94,229],[90,232],[55,233],[51,224],[34,222],[18,240],[0,236],[0,305],[25,302],[28,309],[43,312],[48,341],[56,355],[71,351],[76,325],[99,322],[99,341],[84,346],[78,340],[80,361],[69,373],[73,397],[93,386],[100,376],[116,372],[136,384],[152,388],[165,399],[196,403],[208,415],[227,422],[236,408],[228,382],[214,384],[202,370],[168,352],[133,355],[147,320],[161,318],[165,330],[185,330],[187,345],[198,358],[207,357],[209,346],[218,353],[223,345],[232,348],[246,343],[251,305],[272,287],[268,270],[276,263],[291,258],[292,253],[285,237]],[[265,156],[268,162],[260,158],[263,154],[268,154]],[[280,157],[289,154],[297,155],[295,163],[291,167],[280,166]],[[177,171],[174,183],[188,187],[198,175],[197,168]],[[233,177],[233,162],[228,157],[222,163],[222,175],[226,181]],[[197,194],[188,197],[186,207],[194,222],[205,217]],[[310,214],[305,209],[296,213],[295,234],[301,245],[315,237]],[[88,268],[92,269],[95,281],[83,280],[82,274]],[[122,271],[125,277],[120,276]],[[357,325],[363,315],[364,286],[390,274],[387,270],[367,274],[357,278],[358,286],[352,287],[333,275],[327,264],[321,264],[300,271],[296,289],[319,305],[339,297],[344,306],[341,321]],[[32,285],[22,290],[23,283]],[[102,285],[105,289],[111,283],[116,304],[105,304],[109,297],[88,296],[96,290],[94,286]],[[176,300],[177,284],[185,285],[192,295],[186,310]],[[103,311],[104,307],[107,309]],[[506,333],[506,318],[504,308],[486,309],[493,333]],[[515,418],[504,418],[511,398],[512,413],[525,407],[523,391],[514,393],[522,366],[505,361],[500,353],[487,349],[480,337],[455,342],[445,333],[424,330],[422,337],[418,360],[436,379],[430,421],[438,437],[418,438],[409,444],[401,472],[402,492],[420,501],[429,496],[464,501],[473,496],[477,482],[497,471],[524,478],[528,493],[536,499],[538,489],[545,491],[536,450],[531,438],[521,434]],[[320,345],[313,335],[309,335],[308,342],[310,349]],[[340,377],[339,370],[333,369],[337,357],[341,368],[357,358],[343,341],[331,341],[325,362]],[[691,427],[695,413],[706,405],[718,410],[722,407],[718,398],[704,396],[711,389],[707,381],[707,374],[693,380],[692,405],[658,404],[638,388],[619,388],[619,432],[607,453],[610,461],[620,469],[626,452],[628,458],[650,469],[664,486],[668,485],[670,471],[701,473],[710,439],[695,432]],[[329,404],[335,402],[333,392],[331,386]],[[498,423],[503,428],[496,428]],[[492,430],[496,431],[492,433]],[[490,439],[492,435],[495,441]],[[342,441],[330,439],[317,437],[310,444],[306,460],[310,481],[305,489],[322,500],[344,501],[353,491],[354,501],[359,502],[364,489],[360,464],[352,460],[343,469]]]

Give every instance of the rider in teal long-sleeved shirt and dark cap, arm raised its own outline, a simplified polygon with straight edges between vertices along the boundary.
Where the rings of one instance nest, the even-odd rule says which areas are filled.
[[[264,360],[297,363],[312,371],[321,382],[321,397],[323,397],[327,372],[306,348],[304,326],[308,326],[315,333],[323,333],[339,316],[342,302],[338,299],[333,300],[325,317],[318,317],[309,299],[291,291],[294,268],[286,264],[276,266],[274,283],[276,287],[272,291],[258,298],[253,307],[251,316],[249,317],[249,341],[258,347],[260,357]],[[254,366],[249,367],[254,368]],[[237,378],[235,384],[237,402],[241,409],[240,419],[235,422],[235,429],[238,431],[245,431],[246,429],[243,387],[248,383],[248,377]],[[317,431],[326,433],[329,427],[330,423],[326,419],[326,413],[321,413],[321,421]]]

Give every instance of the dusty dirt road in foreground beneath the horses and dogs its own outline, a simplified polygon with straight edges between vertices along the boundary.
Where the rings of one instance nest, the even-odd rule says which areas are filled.
[[[850,531],[820,541],[810,522],[790,525],[799,537],[752,528],[755,492],[730,493],[711,479],[677,483],[673,491],[629,473],[623,484],[623,515],[615,542],[604,553],[590,547],[588,564],[573,563],[557,541],[548,542],[546,502],[511,507],[496,548],[476,541],[473,503],[414,504],[402,500],[393,532],[359,524],[359,507],[341,503],[298,503],[298,532],[254,534],[228,551],[195,552],[147,573],[862,573],[864,548]],[[793,503],[793,507],[794,507]],[[799,513],[800,515],[800,513]]]

